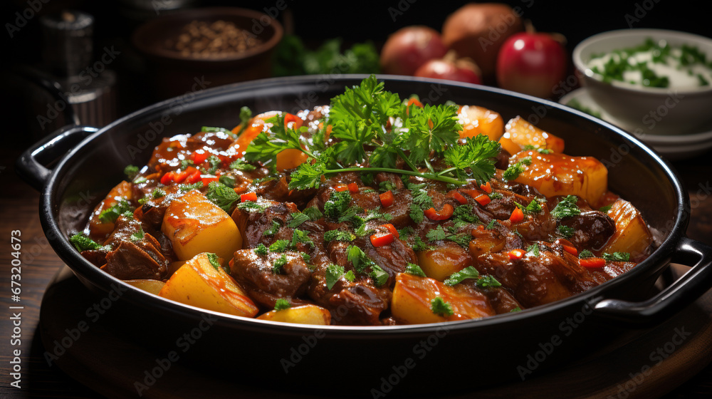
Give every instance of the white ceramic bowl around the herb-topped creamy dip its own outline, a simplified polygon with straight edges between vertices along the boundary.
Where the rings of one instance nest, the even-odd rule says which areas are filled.
[[[613,81],[605,83],[587,63],[592,56],[639,46],[646,38],[671,46],[696,46],[712,60],[712,39],[679,31],[624,29],[599,33],[579,43],[573,52],[577,71],[591,97],[629,131],[645,128],[654,135],[680,135],[712,124],[712,83],[700,88],[648,88]]]

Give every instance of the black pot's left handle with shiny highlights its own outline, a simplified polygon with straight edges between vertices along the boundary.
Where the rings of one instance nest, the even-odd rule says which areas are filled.
[[[52,172],[46,165],[63,157],[70,148],[97,131],[98,128],[77,125],[57,130],[20,155],[15,163],[17,174],[35,190],[41,191]]]

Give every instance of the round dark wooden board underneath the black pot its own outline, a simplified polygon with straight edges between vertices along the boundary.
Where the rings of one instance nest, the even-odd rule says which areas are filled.
[[[673,265],[671,274],[677,278],[687,269]],[[150,386],[137,385],[137,381],[144,380],[145,371],[157,367],[160,356],[109,328],[110,311],[88,326],[81,324],[93,301],[93,296],[65,267],[44,295],[39,328],[45,348],[53,351],[58,344],[64,348],[61,356],[52,359],[53,367],[61,368],[101,395],[136,398],[140,393],[143,398],[170,399],[314,397],[236,385],[220,378],[220,373],[209,365],[196,369],[180,360],[162,371]],[[69,341],[67,337],[72,335],[77,338]],[[629,339],[612,343],[605,353],[523,382],[449,398],[658,398],[712,361],[712,291],[665,323]]]

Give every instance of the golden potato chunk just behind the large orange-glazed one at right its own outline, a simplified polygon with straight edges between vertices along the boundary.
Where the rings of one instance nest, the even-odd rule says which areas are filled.
[[[511,155],[524,150],[526,145],[546,148],[553,152],[564,152],[564,140],[537,128],[520,116],[507,123],[504,128],[504,135],[499,139],[499,143]]]

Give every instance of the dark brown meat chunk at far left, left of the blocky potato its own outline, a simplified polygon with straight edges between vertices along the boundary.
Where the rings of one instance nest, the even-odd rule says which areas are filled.
[[[122,241],[118,247],[106,255],[103,271],[117,279],[155,279],[167,277],[168,265],[160,250],[159,242],[148,233],[137,242]]]

